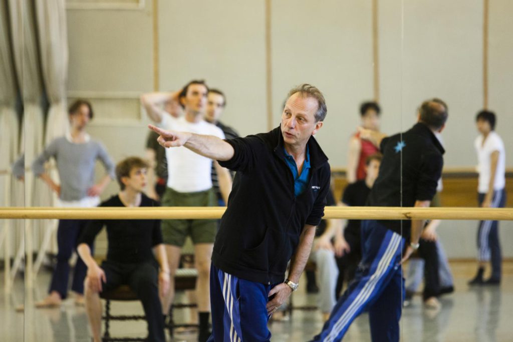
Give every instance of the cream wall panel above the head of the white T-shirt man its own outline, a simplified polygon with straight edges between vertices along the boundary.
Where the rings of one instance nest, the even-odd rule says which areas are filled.
[[[264,14],[263,1],[159,1],[160,88],[205,79],[226,94],[224,122],[265,131]]]

